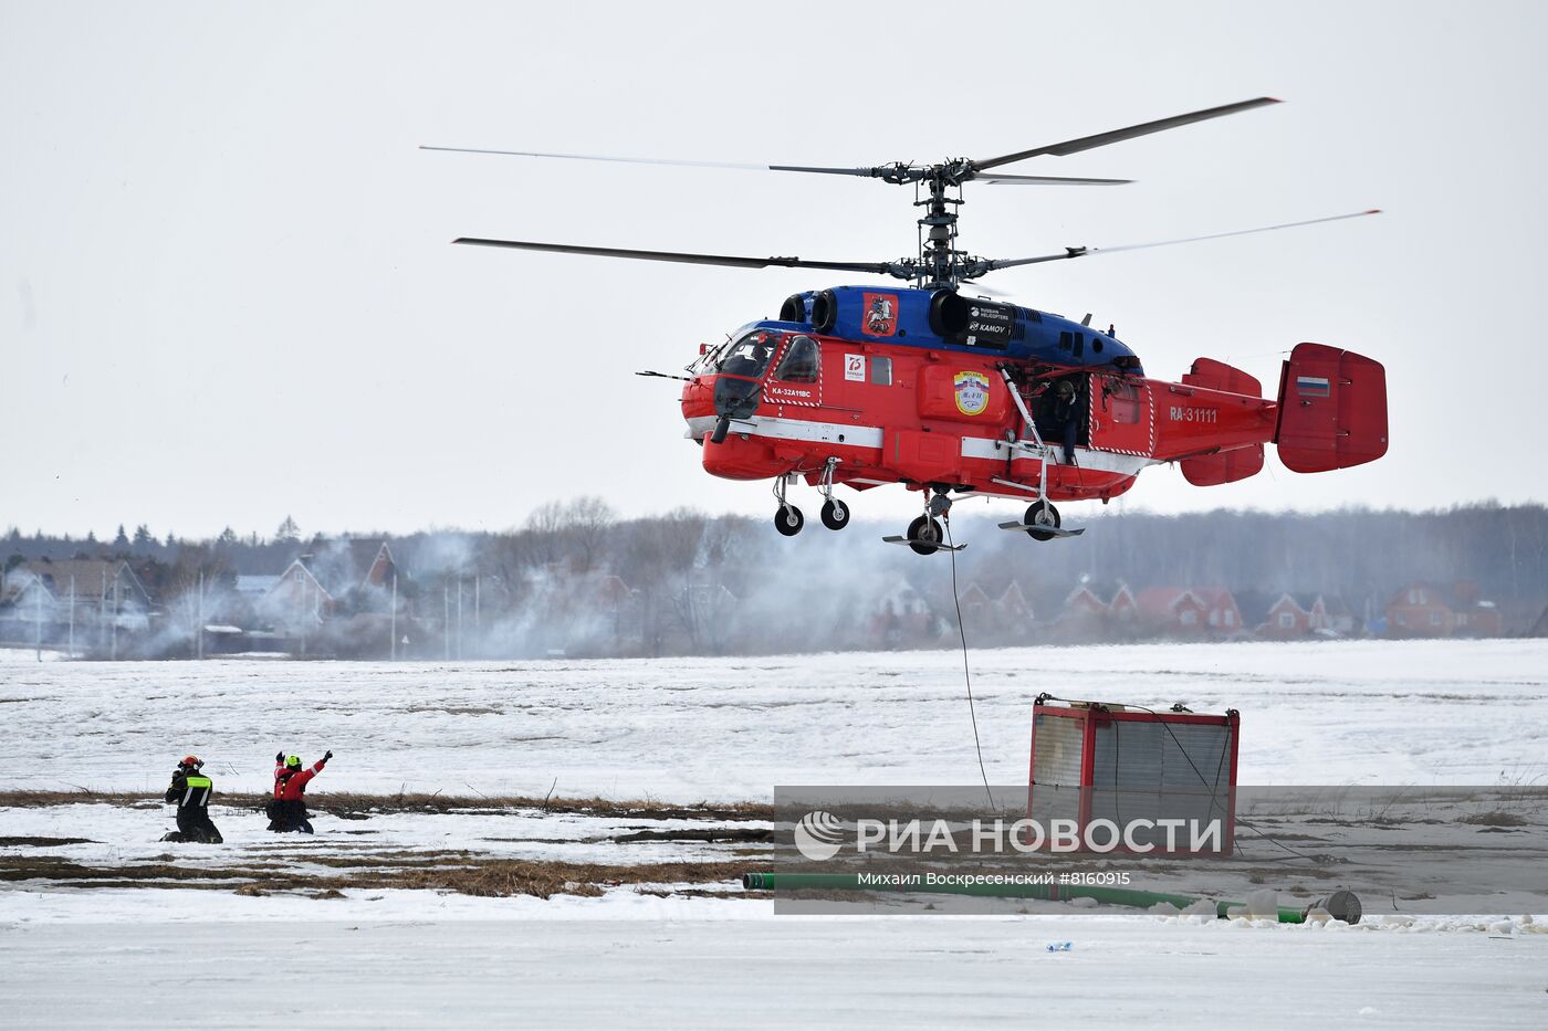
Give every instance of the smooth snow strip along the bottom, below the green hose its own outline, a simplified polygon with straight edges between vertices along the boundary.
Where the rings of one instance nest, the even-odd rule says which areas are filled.
[[[26,1028],[1542,1028],[1548,935],[1153,918],[46,924]],[[670,916],[670,918],[667,918]],[[1068,952],[1050,944],[1070,941]]]

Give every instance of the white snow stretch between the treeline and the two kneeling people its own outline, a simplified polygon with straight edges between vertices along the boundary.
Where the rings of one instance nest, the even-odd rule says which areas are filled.
[[[1033,698],[1241,711],[1241,783],[1497,783],[1548,774],[1548,641],[972,653],[985,765],[1025,783]],[[262,791],[314,785],[694,802],[779,783],[972,783],[954,652],[560,663],[0,664],[0,788],[159,791],[186,752]],[[557,780],[557,783],[556,783]]]

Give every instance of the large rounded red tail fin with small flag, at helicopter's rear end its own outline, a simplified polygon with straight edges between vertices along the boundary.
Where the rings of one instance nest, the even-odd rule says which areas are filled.
[[[1296,472],[1325,472],[1387,454],[1387,370],[1324,344],[1299,344],[1279,378],[1279,458]]]

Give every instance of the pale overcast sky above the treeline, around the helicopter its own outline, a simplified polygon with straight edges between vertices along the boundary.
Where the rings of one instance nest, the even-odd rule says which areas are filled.
[[[992,257],[1387,211],[998,274],[1156,378],[1214,356],[1272,389],[1299,341],[1387,365],[1376,464],[1158,468],[1122,503],[1545,500],[1545,28],[1540,3],[3,0],[0,528],[498,529],[577,494],[772,514],[701,471],[676,384],[632,373],[842,276],[447,241],[884,260],[913,251],[912,190],[420,144],[933,161],[1260,94],[1286,102],[1008,169],[1133,186],[969,186]]]

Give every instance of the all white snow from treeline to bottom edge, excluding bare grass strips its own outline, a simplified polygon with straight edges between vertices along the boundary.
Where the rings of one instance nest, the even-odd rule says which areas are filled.
[[[25,661],[23,661],[25,659]],[[1548,642],[1319,642],[975,652],[989,777],[1025,780],[1031,700],[1241,711],[1243,783],[1528,782],[1548,772]],[[505,664],[0,659],[0,788],[146,791],[209,760],[217,791],[263,790],[277,749],[337,752],[328,791],[523,793],[690,803],[777,783],[977,779],[960,655]],[[557,782],[557,783],[556,783]],[[217,796],[218,800],[218,796]],[[596,861],[638,822],[375,816],[276,841],[215,811],[228,844],[178,861],[288,862],[367,844],[401,853]],[[678,822],[683,824],[683,822]],[[692,824],[689,820],[687,824]],[[0,810],[0,836],[85,837],[87,865],[164,855],[158,808]],[[372,831],[350,836],[350,831]],[[638,861],[735,848],[630,845]],[[0,848],[17,856],[19,847]],[[33,851],[37,851],[36,848]],[[288,853],[288,855],[286,855]],[[613,859],[615,862],[619,859]],[[1111,1026],[1548,1025],[1548,920],[1520,913],[1354,927],[1034,904],[992,918],[772,916],[768,899],[622,885],[601,898],[0,882],[0,1025],[163,1026],[192,961],[198,1023],[639,1026],[978,1020]],[[1368,910],[1370,912],[1370,910]],[[1048,946],[1070,941],[1068,952]]]

